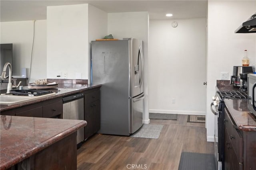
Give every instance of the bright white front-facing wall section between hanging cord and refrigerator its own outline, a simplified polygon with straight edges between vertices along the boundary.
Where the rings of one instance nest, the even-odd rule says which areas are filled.
[[[47,78],[88,79],[88,50],[88,4],[48,6]]]

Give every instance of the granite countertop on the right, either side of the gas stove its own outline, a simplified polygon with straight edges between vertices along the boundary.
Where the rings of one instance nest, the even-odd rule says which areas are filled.
[[[230,85],[229,80],[217,80],[216,88],[220,91],[239,90]],[[256,117],[247,108],[247,99],[224,99],[224,103],[238,129],[256,132]]]

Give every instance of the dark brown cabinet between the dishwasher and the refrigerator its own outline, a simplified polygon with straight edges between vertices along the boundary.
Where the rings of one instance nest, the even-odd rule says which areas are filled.
[[[85,139],[100,130],[100,88],[84,92],[84,128]]]

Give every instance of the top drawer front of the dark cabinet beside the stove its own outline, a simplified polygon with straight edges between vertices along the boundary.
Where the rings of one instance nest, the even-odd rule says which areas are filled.
[[[228,131],[229,139],[232,144],[232,147],[234,148],[234,151],[236,153],[236,156],[239,160],[240,163],[243,162],[243,138],[242,135],[240,134],[240,131],[236,129],[231,120],[230,115],[227,113],[225,110],[225,127],[226,130]]]

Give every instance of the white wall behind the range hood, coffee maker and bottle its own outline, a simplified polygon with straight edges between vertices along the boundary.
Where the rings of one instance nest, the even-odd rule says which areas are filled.
[[[210,110],[220,72],[232,75],[233,66],[241,65],[244,49],[250,64],[256,62],[254,33],[234,33],[256,11],[256,1],[208,1],[208,75],[207,75],[207,141],[213,141],[214,115]]]

